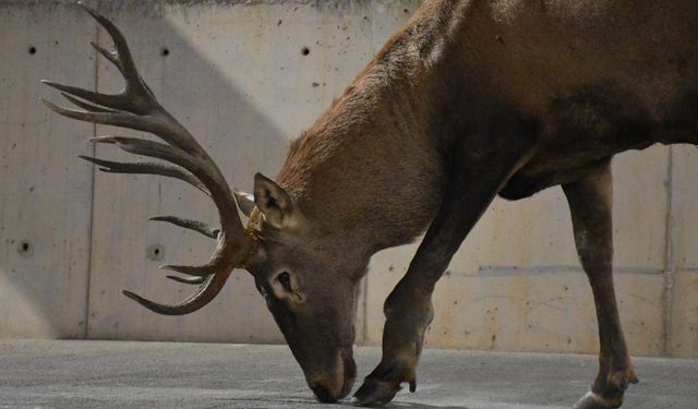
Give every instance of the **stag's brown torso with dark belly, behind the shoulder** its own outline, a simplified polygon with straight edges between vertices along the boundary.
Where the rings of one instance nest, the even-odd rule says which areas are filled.
[[[544,142],[505,197],[623,151],[698,142],[698,2],[476,1],[466,20],[468,74],[541,122]]]

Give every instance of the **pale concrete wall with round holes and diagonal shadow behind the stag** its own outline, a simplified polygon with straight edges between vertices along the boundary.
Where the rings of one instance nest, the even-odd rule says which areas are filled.
[[[228,181],[274,176],[291,139],[349,84],[419,1],[96,1],[123,29],[158,99]],[[146,222],[174,214],[215,220],[181,182],[96,172],[75,158],[115,130],[50,113],[39,79],[117,91],[89,41],[105,33],[65,1],[0,1],[0,337],[281,341],[251,277],[236,272],[210,305],[155,315],[121,288],[160,301],[191,288],[167,263],[204,261],[212,242]],[[310,50],[308,56],[301,51]],[[119,134],[128,134],[119,131]],[[125,158],[99,146],[96,154]],[[652,147],[614,163],[616,282],[636,354],[698,357],[698,155]],[[363,284],[359,341],[377,345],[382,303],[414,246],[374,256]],[[431,347],[597,350],[591,291],[574,251],[559,189],[496,200],[436,290]]]

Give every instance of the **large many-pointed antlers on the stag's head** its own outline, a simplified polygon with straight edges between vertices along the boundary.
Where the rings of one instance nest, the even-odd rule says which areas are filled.
[[[107,51],[94,43],[92,45],[119,69],[125,80],[125,88],[120,94],[106,95],[44,81],[45,84],[61,91],[65,99],[84,110],[62,108],[45,99],[41,100],[53,111],[69,118],[153,133],[166,143],[124,136],[101,136],[92,141],[116,144],[129,153],[149,156],[174,165],[118,163],[81,156],[100,166],[100,170],[177,178],[194,185],[213,199],[218,208],[220,229],[212,229],[201,221],[173,216],[152,218],[152,220],[168,221],[193,229],[218,240],[218,245],[206,265],[160,266],[160,268],[185,274],[189,277],[168,276],[168,278],[180,282],[198,284],[201,285],[198,289],[177,305],[158,304],[123,290],[127,297],[154,312],[165,315],[189,314],[206,305],[218,294],[234,266],[244,262],[251,250],[252,240],[242,226],[236,199],[220,170],[189,131],[158,104],[153,92],[141,79],[121,32],[94,9],[82,3],[80,5],[92,14],[111,36],[116,51]]]

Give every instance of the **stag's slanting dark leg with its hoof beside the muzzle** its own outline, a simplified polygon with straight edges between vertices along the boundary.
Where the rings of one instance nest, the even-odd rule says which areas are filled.
[[[442,206],[407,274],[385,301],[383,358],[354,394],[353,402],[385,405],[401,383],[409,383],[414,392],[424,332],[433,317],[434,286],[470,229],[531,148],[530,141],[514,137],[512,143],[509,139],[506,148],[494,148],[486,155],[480,151],[478,157],[464,155],[454,164]],[[521,145],[516,146],[517,142]]]

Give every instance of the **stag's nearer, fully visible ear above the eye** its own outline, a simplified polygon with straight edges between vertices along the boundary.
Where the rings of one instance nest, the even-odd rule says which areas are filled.
[[[281,187],[262,173],[254,176],[254,203],[269,225],[278,229],[289,225],[293,201]]]

